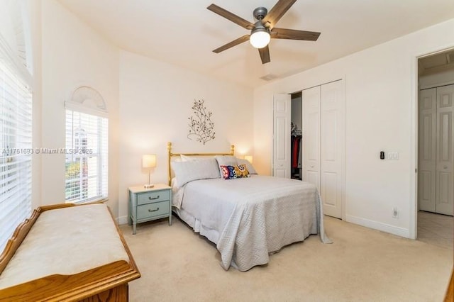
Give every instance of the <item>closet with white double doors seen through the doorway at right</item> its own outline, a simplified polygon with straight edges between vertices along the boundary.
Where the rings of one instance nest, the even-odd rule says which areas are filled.
[[[454,84],[419,91],[419,210],[453,215]]]

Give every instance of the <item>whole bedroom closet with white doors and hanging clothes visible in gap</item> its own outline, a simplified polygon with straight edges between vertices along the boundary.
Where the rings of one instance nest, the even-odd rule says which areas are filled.
[[[323,213],[342,218],[345,187],[343,80],[292,95],[275,94],[272,116],[272,175],[314,184],[323,201]]]

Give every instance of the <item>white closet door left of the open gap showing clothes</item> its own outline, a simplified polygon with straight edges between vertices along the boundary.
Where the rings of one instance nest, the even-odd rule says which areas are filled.
[[[292,96],[273,96],[273,163],[275,177],[290,178],[290,121],[292,118]]]

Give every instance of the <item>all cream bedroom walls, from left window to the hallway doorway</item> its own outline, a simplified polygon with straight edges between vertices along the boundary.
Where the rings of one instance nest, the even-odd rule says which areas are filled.
[[[42,119],[40,147],[65,144],[64,101],[79,84],[106,99],[110,113],[109,201],[126,222],[126,190],[143,184],[141,155],[155,153],[155,182],[167,181],[166,144],[182,152],[228,150],[253,154],[270,174],[272,95],[345,79],[345,218],[406,237],[415,235],[416,57],[454,46],[454,20],[440,23],[255,91],[164,62],[119,51],[57,1],[41,2]],[[194,99],[213,111],[216,139],[188,140]],[[399,152],[380,160],[379,152]],[[64,157],[43,155],[40,204],[64,200]],[[392,218],[392,208],[400,211]]]

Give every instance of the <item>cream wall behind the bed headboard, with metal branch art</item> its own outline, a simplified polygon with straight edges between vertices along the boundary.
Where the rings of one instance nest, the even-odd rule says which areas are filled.
[[[211,111],[216,138],[189,140],[194,99]],[[156,154],[152,181],[167,183],[167,142],[175,152],[253,153],[253,91],[131,52],[120,55],[120,218],[126,223],[127,188],[148,182],[144,154]]]

